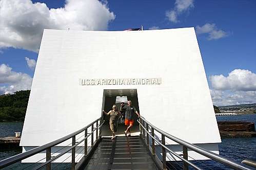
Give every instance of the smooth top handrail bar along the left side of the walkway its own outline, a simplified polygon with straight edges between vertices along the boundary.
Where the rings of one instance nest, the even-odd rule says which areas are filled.
[[[49,148],[52,148],[52,147],[54,147],[55,145],[60,144],[60,143],[62,143],[62,142],[64,142],[64,141],[66,141],[66,140],[68,140],[68,139],[70,139],[70,138],[76,136],[77,134],[80,134],[80,133],[83,132],[83,131],[86,131],[90,126],[93,126],[94,123],[97,123],[99,120],[102,120],[102,117],[100,117],[100,118],[94,120],[94,122],[90,123],[90,124],[87,125],[86,127],[82,128],[82,129],[80,129],[80,130],[78,130],[78,131],[76,131],[76,132],[73,132],[73,133],[71,133],[71,134],[69,134],[69,135],[67,135],[67,136],[64,136],[64,137],[62,137],[62,138],[60,138],[60,139],[54,140],[54,141],[49,142],[49,143],[47,143],[47,144],[44,144],[44,145],[42,145],[42,146],[40,146],[40,147],[36,147],[36,148],[31,149],[31,150],[29,150],[29,151],[27,151],[27,152],[24,152],[24,153],[21,153],[21,154],[12,156],[12,157],[10,157],[10,158],[4,159],[4,160],[0,161],[0,168],[9,166],[9,165],[11,165],[11,164],[13,164],[13,163],[16,163],[16,162],[18,162],[18,161],[21,161],[21,160],[23,160],[23,159],[26,159],[26,158],[28,158],[28,157],[30,157],[30,156],[33,156],[33,155],[35,155],[35,154],[38,154],[38,153],[40,153],[40,152],[42,152],[42,151],[45,151],[45,150],[47,150],[47,149],[49,149]],[[100,126],[97,125],[96,129],[98,129],[99,127],[101,127],[101,126],[104,124],[104,122],[105,122],[105,120],[103,120],[103,122],[102,122],[102,124],[101,124]],[[95,130],[93,130],[93,131],[95,131]],[[91,133],[88,134],[88,136],[89,136],[89,135],[91,135]],[[96,137],[97,137],[97,136],[96,136]],[[87,139],[87,137],[85,137],[84,140],[85,140],[85,139]],[[96,139],[96,140],[97,140],[97,139]],[[82,142],[82,141],[81,141],[81,142]],[[74,145],[73,145],[73,146],[74,146]],[[70,150],[74,148],[73,146],[70,148]],[[70,150],[68,150],[68,151],[70,151]],[[53,159],[53,160],[54,160],[54,159]],[[52,161],[53,161],[53,160],[52,160]]]

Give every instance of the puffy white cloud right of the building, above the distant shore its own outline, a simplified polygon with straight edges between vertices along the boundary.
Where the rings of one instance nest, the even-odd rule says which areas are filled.
[[[216,106],[256,103],[256,74],[235,69],[227,77],[210,76],[211,98]]]

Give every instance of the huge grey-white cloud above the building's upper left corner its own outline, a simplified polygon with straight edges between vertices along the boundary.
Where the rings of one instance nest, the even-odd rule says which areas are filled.
[[[0,49],[38,52],[44,29],[107,30],[115,15],[106,1],[66,0],[64,8],[49,9],[31,0],[1,0],[0,18]]]

